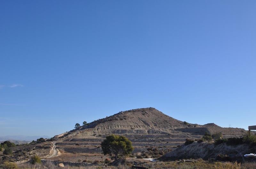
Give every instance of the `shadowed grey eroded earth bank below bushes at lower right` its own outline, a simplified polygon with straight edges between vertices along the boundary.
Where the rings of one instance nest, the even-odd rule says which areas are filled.
[[[189,145],[181,145],[179,148],[165,154],[162,160],[178,160],[178,159],[197,159],[202,158],[208,160],[210,158],[216,159],[219,154],[227,155],[232,161],[246,160],[244,154],[254,153],[256,147],[248,144],[227,145],[225,143],[214,145],[213,143],[197,143],[194,142]]]

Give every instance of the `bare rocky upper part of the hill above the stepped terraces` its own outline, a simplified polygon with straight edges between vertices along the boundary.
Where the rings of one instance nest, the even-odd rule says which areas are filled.
[[[121,111],[113,116],[95,120],[76,130],[55,136],[55,138],[83,138],[95,135],[108,134],[172,134],[222,132],[224,136],[241,136],[244,129],[222,128],[214,123],[204,125],[182,122],[174,119],[155,108],[141,108]]]

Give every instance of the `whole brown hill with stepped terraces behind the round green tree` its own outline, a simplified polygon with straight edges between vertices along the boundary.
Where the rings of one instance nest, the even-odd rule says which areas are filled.
[[[197,139],[208,133],[222,132],[224,137],[239,137],[244,129],[221,128],[214,123],[205,125],[184,123],[165,115],[155,108],[133,109],[96,120],[77,130],[57,135],[56,149],[59,156],[53,160],[73,161],[102,160],[100,143],[109,134],[120,134],[132,141],[134,155],[146,151],[148,147],[176,149],[186,138]],[[70,158],[69,158],[70,160]]]

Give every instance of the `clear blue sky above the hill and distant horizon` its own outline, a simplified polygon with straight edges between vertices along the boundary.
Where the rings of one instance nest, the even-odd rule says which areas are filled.
[[[0,136],[155,107],[256,125],[256,1],[1,1]]]

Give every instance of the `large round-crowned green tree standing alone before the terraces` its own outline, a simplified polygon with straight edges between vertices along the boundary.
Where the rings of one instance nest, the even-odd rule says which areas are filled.
[[[133,151],[132,142],[124,136],[117,136],[112,134],[107,136],[100,145],[103,154],[108,154],[115,160],[119,158],[119,156],[131,154]]]

